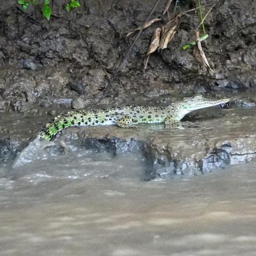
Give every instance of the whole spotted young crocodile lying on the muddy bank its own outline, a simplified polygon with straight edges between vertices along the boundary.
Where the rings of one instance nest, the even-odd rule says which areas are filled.
[[[172,105],[160,106],[122,105],[109,109],[83,110],[69,112],[55,117],[54,121],[46,124],[37,138],[50,140],[58,132],[70,126],[111,125],[132,127],[138,123],[177,123],[191,111],[227,103],[229,98],[209,99],[200,94],[184,98]]]

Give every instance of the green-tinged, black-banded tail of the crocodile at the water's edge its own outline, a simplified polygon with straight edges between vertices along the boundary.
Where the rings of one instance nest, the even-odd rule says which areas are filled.
[[[37,134],[37,138],[50,140],[53,138],[54,135],[56,135],[63,129],[70,126],[79,126],[79,125],[84,125],[84,124],[77,120],[76,115],[74,114],[72,115],[71,113],[69,113],[69,115],[60,115],[55,117],[55,119],[52,122],[47,123],[45,129],[41,130]]]

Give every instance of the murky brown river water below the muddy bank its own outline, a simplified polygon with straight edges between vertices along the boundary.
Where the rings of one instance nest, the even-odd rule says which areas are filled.
[[[145,182],[140,154],[36,158],[1,166],[0,255],[256,253],[255,164]]]

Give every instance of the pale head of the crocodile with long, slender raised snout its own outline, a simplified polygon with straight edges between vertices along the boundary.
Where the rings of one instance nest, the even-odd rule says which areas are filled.
[[[222,103],[227,103],[229,98],[224,97],[222,99],[210,99],[204,98],[200,94],[195,94],[193,97],[190,98],[183,98],[180,101],[180,106],[184,110],[184,112],[189,113],[194,110],[208,108],[209,106],[216,106]]]

